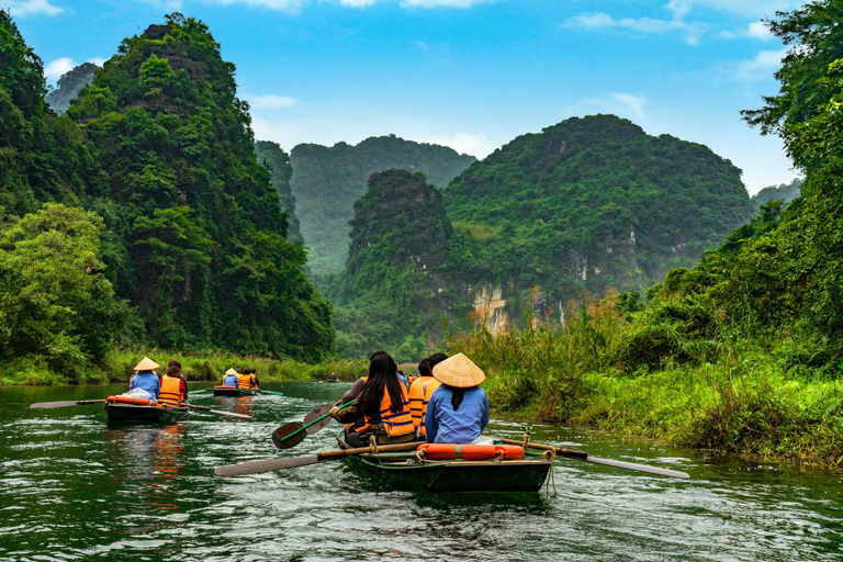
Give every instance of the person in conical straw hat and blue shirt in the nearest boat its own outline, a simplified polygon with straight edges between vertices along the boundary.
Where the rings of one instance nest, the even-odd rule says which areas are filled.
[[[436,443],[470,443],[488,424],[488,398],[480,387],[486,373],[462,353],[432,368],[442,384],[436,389],[425,414],[426,438]]]

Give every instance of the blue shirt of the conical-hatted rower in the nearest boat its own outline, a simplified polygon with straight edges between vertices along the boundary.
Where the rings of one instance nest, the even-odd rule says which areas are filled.
[[[457,412],[451,406],[451,389],[441,385],[434,391],[425,414],[427,440],[431,443],[467,445],[480,437],[488,425],[488,398],[480,386],[465,389]]]

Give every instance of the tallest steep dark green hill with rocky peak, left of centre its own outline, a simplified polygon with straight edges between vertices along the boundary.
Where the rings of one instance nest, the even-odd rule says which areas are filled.
[[[255,156],[235,67],[172,14],[125,40],[67,111],[102,162],[89,186],[106,274],[165,348],[318,358],[329,306]]]

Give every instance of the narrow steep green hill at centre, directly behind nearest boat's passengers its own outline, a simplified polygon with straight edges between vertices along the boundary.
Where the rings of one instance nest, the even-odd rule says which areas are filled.
[[[442,341],[446,316],[470,329],[460,322],[470,305],[438,273],[451,225],[424,173],[386,170],[368,183],[355,203],[348,261],[327,289],[336,348],[350,357],[389,349],[398,362],[418,361]]]

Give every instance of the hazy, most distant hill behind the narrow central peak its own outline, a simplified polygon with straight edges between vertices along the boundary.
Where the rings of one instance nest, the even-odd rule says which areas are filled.
[[[353,204],[366,193],[367,179],[376,171],[405,169],[425,173],[439,189],[476,158],[395,135],[367,138],[356,146],[303,144],[291,153],[290,181],[304,243],[311,248],[314,272],[337,272],[348,255],[348,221]]]

